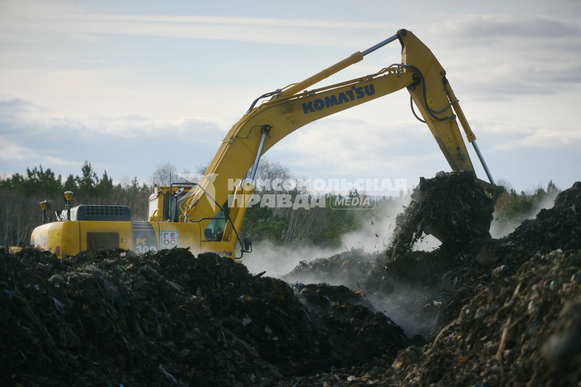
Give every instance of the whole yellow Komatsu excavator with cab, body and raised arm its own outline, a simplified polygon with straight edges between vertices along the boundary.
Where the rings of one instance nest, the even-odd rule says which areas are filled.
[[[363,57],[393,41],[401,44],[401,63],[375,74],[308,90]],[[66,209],[52,219],[51,203],[41,203],[43,225],[34,229],[31,244],[58,256],[99,247],[119,247],[137,253],[189,247],[193,254],[215,252],[240,259],[252,251],[248,238],[239,236],[246,208],[255,193],[253,185],[261,155],[309,122],[406,88],[411,110],[425,122],[454,171],[476,173],[462,139],[458,121],[489,181],[476,178],[496,201],[502,191],[494,183],[476,136],[436,57],[415,35],[399,30],[395,35],[302,82],[258,97],[223,140],[202,179],[196,183],[170,183],[153,187],[147,222],[132,222],[123,205],[77,205],[73,193],[64,193]],[[259,100],[264,102],[258,104]],[[419,114],[414,111],[414,104]],[[248,176],[249,179],[243,179]],[[232,182],[235,182],[233,185]],[[231,200],[228,200],[231,198]],[[234,198],[234,199],[232,199]],[[47,215],[48,214],[48,219]],[[482,225],[486,231],[490,222]]]

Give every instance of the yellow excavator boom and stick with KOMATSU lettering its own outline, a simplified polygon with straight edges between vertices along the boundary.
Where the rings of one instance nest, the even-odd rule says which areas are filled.
[[[368,53],[395,40],[399,40],[402,47],[401,63],[383,68],[376,74],[307,91],[315,83],[360,62]],[[270,100],[256,107],[254,104],[261,97],[255,100],[249,111],[232,126],[224,138],[204,178],[185,202],[185,212],[180,221],[199,222],[202,230],[206,229],[228,197],[232,193],[241,194],[243,199],[227,215],[229,223],[223,236],[223,241],[229,240],[233,245],[241,244],[238,232],[253,193],[253,186],[236,186],[233,182],[239,182],[251,167],[250,179],[253,180],[261,155],[310,122],[403,88],[410,92],[411,100],[423,118],[421,120],[418,117],[418,120],[428,125],[450,167],[454,171],[475,172],[457,121],[461,122],[468,142],[474,146],[476,137],[446,79],[446,71],[431,50],[412,32],[400,30],[378,45],[356,52],[298,84],[261,96],[270,97]],[[497,186],[494,185],[477,146],[475,150],[490,180],[490,183],[483,180],[479,182],[494,191]]]

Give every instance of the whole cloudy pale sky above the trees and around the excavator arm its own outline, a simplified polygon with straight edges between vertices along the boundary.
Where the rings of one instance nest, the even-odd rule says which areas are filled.
[[[581,180],[580,26],[576,0],[0,0],[0,173],[194,170],[257,96],[406,28],[446,68],[494,178],[566,188]],[[321,86],[399,61],[394,43]],[[313,122],[267,157],[313,179],[412,185],[449,170],[406,91]]]

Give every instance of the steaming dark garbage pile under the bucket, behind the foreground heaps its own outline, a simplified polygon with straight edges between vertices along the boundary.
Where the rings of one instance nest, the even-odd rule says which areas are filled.
[[[409,220],[419,216],[420,223],[425,225],[429,216],[422,218],[421,214],[437,214],[444,205],[454,214],[461,214],[462,208],[468,207],[460,198],[476,198],[480,189],[474,194],[467,193],[465,180],[452,184],[457,178],[453,172],[423,180],[424,187],[446,186],[445,194],[454,198],[456,207],[446,200],[413,201],[399,218]],[[436,193],[431,194],[435,198]],[[432,209],[428,208],[430,204]],[[415,207],[418,205],[422,211]],[[376,310],[385,311],[408,334],[420,334],[431,340],[487,284],[511,276],[530,256],[561,247],[581,248],[581,183],[562,191],[555,198],[553,208],[542,209],[536,219],[525,220],[501,240],[480,235],[470,241],[462,237],[463,242],[458,244],[455,241],[459,238],[450,238],[451,243],[443,243],[433,251],[414,251],[410,249],[413,244],[410,233],[405,232],[405,227],[398,227],[400,232],[385,254],[345,252],[328,260],[317,259],[299,265],[283,278],[288,282],[327,281],[333,277],[343,281],[345,278],[340,283],[354,290],[361,289]],[[411,227],[411,230],[417,229]],[[460,235],[465,234],[460,232]],[[350,259],[353,255],[356,259]],[[393,259],[394,255],[397,259]],[[322,277],[317,277],[320,274]]]

